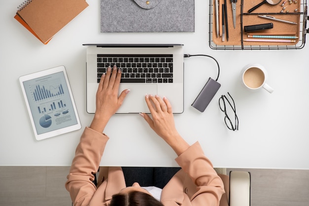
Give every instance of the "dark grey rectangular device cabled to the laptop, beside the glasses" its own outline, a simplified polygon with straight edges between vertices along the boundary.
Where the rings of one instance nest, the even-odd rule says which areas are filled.
[[[203,89],[199,92],[192,106],[200,112],[204,112],[212,98],[219,90],[221,84],[209,78]]]

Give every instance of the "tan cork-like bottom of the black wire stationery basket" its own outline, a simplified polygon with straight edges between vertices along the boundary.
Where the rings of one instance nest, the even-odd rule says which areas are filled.
[[[232,3],[231,0],[227,0],[227,16],[228,16],[228,28],[229,28],[229,41],[225,38],[225,41],[222,41],[222,37],[217,37],[216,35],[216,20],[215,15],[213,15],[213,24],[212,24],[212,38],[214,43],[217,45],[294,45],[299,39],[294,39],[296,42],[249,42],[243,41],[244,39],[249,39],[248,35],[244,33],[244,26],[257,25],[257,24],[266,24],[272,23],[272,29],[266,29],[262,31],[257,31],[254,33],[263,33],[266,35],[275,35],[280,33],[294,33],[299,37],[300,35],[300,0],[294,0],[292,3],[289,3],[289,0],[286,0],[285,4],[282,6],[284,0],[276,5],[270,5],[268,3],[264,3],[251,13],[248,12],[249,9],[254,7],[255,5],[261,3],[263,0],[237,0],[236,2],[236,28],[233,27],[232,21]],[[224,0],[222,0],[224,3]],[[243,3],[243,4],[242,4]],[[214,5],[214,2],[212,2]],[[285,7],[285,8],[284,8]],[[283,9],[284,8],[284,9]],[[298,9],[295,11],[295,9]],[[215,9],[213,8],[213,11]],[[241,13],[242,11],[242,13]],[[215,13],[215,12],[213,12]],[[221,14],[219,14],[221,15]],[[283,19],[287,21],[292,21],[297,23],[297,25],[287,24],[283,22],[273,21],[269,19],[264,19],[259,17],[258,15],[269,15],[273,16],[277,19]],[[222,27],[222,25],[219,25]],[[252,38],[250,38],[252,39]],[[260,39],[260,38],[259,38]],[[263,38],[264,40],[270,40],[267,38]],[[278,39],[276,39],[278,40]]]

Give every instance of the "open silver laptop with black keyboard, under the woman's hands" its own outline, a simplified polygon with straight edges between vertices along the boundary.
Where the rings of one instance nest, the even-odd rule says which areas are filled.
[[[86,110],[95,113],[96,91],[108,66],[121,69],[119,94],[130,89],[117,113],[149,113],[146,94],[166,96],[173,113],[184,111],[183,44],[83,44],[87,46]]]

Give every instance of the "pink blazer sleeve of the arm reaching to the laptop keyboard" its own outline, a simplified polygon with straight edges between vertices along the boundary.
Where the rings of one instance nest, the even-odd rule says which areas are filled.
[[[88,206],[96,186],[92,183],[109,137],[86,127],[80,137],[75,157],[67,176],[66,189],[74,206]]]

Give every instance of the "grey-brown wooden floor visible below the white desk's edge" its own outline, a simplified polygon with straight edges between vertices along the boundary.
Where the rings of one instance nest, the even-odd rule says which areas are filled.
[[[251,206],[309,206],[309,170],[251,172]],[[69,167],[0,166],[0,206],[71,206]]]

